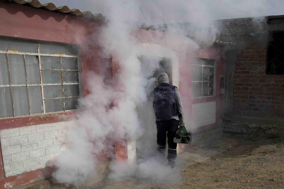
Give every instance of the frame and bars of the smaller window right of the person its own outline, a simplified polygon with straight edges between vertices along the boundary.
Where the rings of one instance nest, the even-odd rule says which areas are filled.
[[[193,74],[192,74],[192,72],[191,72],[191,99],[198,99],[198,98],[210,98],[210,97],[215,97],[216,96],[216,60],[215,59],[210,59],[210,58],[201,58],[201,57],[194,57],[194,59],[196,60],[196,59],[198,59],[198,60],[210,60],[210,61],[214,61],[214,66],[209,66],[209,65],[198,65],[198,64],[191,64],[191,66],[202,66],[202,69],[201,69],[201,74],[202,74],[202,71],[203,71],[203,67],[204,66],[206,66],[206,67],[214,67],[214,76],[213,76],[213,95],[212,96],[204,96],[204,97],[202,97],[202,90],[204,90],[204,89],[202,89],[202,86],[201,86],[201,97],[194,97],[194,95],[193,95],[193,85],[192,85],[192,83],[193,82],[201,82],[201,83],[203,83],[203,81],[202,81],[202,76],[201,76],[201,81],[193,81]]]

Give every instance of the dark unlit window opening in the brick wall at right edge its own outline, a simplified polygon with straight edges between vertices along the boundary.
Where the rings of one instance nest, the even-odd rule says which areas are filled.
[[[267,46],[266,74],[284,74],[284,32],[272,32],[272,40]]]

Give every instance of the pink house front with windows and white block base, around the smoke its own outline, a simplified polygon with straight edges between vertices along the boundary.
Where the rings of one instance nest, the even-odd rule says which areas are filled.
[[[101,14],[37,0],[24,2],[27,6],[13,2],[0,1],[0,188],[50,176],[50,160],[66,149],[62,137],[72,124],[77,100],[88,94],[87,72],[102,74],[99,63],[108,62],[112,76],[119,67],[99,56],[99,45],[88,43],[105,24]],[[179,87],[190,128],[206,131],[222,123],[225,51],[213,45],[180,53],[160,37],[141,29],[135,48],[141,55],[169,60],[168,74]],[[135,160],[135,143],[113,141],[116,159]],[[178,145],[179,152],[183,149]]]

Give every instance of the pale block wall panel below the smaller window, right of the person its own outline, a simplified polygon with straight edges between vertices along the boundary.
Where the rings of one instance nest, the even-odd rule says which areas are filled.
[[[216,122],[216,101],[191,105],[191,118],[196,127],[210,125]]]

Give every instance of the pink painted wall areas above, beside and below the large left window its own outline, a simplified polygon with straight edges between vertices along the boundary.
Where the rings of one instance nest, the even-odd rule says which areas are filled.
[[[88,43],[90,41],[89,38],[96,36],[97,30],[102,24],[104,24],[103,21],[99,20],[0,1],[0,36],[80,45],[83,96],[88,94],[88,89],[85,85],[87,71],[100,72],[98,64],[103,61],[96,53],[99,51],[99,46]],[[54,123],[68,119],[74,112],[0,118],[0,130],[39,123]],[[51,169],[45,168],[45,171],[36,170],[4,178],[0,151],[0,188],[4,188],[5,183],[12,183],[13,187],[23,185],[43,179],[50,173]]]

